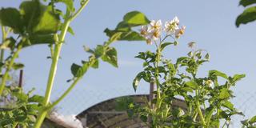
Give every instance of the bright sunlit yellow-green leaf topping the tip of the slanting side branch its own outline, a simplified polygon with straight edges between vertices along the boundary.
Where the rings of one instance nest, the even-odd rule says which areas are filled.
[[[139,11],[131,11],[123,17],[123,21],[131,26],[140,26],[150,23],[144,14]]]

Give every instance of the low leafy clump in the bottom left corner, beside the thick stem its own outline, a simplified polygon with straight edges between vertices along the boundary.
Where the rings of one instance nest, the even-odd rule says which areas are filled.
[[[0,126],[32,126],[43,101],[42,96],[32,95],[32,92],[24,93],[18,86],[6,86],[0,98]]]

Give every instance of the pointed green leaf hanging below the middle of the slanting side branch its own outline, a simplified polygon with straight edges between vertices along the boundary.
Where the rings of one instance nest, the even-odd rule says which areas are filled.
[[[102,56],[102,61],[109,62],[112,66],[118,67],[118,52],[114,47],[107,47],[106,53]]]

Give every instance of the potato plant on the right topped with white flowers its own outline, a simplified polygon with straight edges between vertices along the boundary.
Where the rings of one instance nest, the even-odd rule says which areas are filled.
[[[122,110],[127,110],[132,118],[141,118],[147,126],[162,127],[228,127],[231,117],[243,115],[234,108],[232,87],[245,77],[245,74],[228,76],[218,70],[209,70],[208,76],[199,77],[198,70],[204,62],[209,62],[206,50],[196,49],[190,42],[191,51],[176,61],[164,58],[162,52],[177,46],[178,38],[185,33],[185,26],[179,26],[179,19],[166,22],[152,20],[142,26],[141,35],[146,43],[155,46],[155,52],[138,53],[135,58],[142,59],[143,70],[134,78],[133,87],[137,90],[139,82],[154,82],[154,99],[146,105],[133,103],[130,99],[119,100]],[[186,108],[173,106],[176,98],[186,103]],[[126,103],[125,103],[126,102]],[[125,106],[126,104],[126,106]],[[221,122],[223,121],[223,122]]]

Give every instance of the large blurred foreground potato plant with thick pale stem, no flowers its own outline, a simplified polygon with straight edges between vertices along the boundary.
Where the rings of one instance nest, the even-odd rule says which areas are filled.
[[[118,67],[117,50],[110,46],[112,42],[116,40],[144,40],[140,34],[131,30],[131,27],[145,25],[149,21],[138,11],[126,14],[122,23],[118,25],[118,30],[105,30],[105,33],[110,36],[106,42],[94,49],[85,47],[85,51],[90,54],[90,57],[87,60],[82,60],[81,64],[73,63],[71,65],[73,78],[67,80],[70,87],[62,92],[56,101],[50,102],[54,78],[57,74],[58,60],[66,33],[74,34],[70,22],[78,17],[89,0],[76,2],[80,2],[78,9],[74,7],[74,1],[72,0],[44,0],[44,2],[30,0],[22,2],[19,8],[8,7],[0,10],[2,26],[0,97],[13,95],[17,98],[16,102],[21,104],[11,109],[9,107],[1,108],[3,110],[0,113],[1,127],[19,125],[39,128],[47,113],[70,93],[86,74],[86,71],[90,68],[98,68],[100,59]],[[58,9],[58,3],[63,3],[66,10]],[[49,46],[50,57],[48,58],[51,59],[45,95],[32,96],[30,93],[23,93],[21,89],[18,89],[19,91],[10,90],[10,86],[7,84],[10,73],[23,67],[22,63],[16,62],[19,53],[26,47],[43,44]],[[22,115],[22,118],[17,118],[18,114]]]

